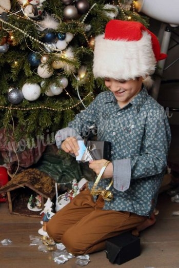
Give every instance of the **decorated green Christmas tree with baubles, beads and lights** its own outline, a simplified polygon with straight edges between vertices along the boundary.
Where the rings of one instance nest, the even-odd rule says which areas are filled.
[[[105,90],[93,78],[92,60],[94,37],[106,23],[148,26],[130,0],[6,0],[0,13],[0,127],[29,145],[67,126]]]

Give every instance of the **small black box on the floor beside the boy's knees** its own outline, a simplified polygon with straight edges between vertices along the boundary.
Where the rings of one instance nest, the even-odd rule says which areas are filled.
[[[130,232],[112,237],[106,241],[107,258],[111,263],[122,264],[141,254],[140,238]]]

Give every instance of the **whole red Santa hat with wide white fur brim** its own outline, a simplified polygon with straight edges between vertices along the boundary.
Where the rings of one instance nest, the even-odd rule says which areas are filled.
[[[154,73],[157,61],[167,56],[161,53],[157,37],[139,22],[112,19],[94,44],[95,78],[145,79]]]

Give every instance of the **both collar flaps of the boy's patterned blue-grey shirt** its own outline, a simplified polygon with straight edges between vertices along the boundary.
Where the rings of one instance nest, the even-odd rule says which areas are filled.
[[[146,98],[148,96],[148,91],[145,87],[138,93],[130,102],[129,104],[132,104],[134,108],[138,111],[140,111],[141,107],[143,106]],[[116,103],[116,98],[114,97],[114,94],[111,91],[106,91],[106,95],[104,98],[104,102],[107,104],[108,102],[114,102]],[[128,104],[128,105],[129,105]],[[128,106],[127,105],[127,106]]]

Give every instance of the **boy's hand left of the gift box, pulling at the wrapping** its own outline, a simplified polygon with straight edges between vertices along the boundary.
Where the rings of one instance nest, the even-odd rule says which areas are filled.
[[[66,153],[78,155],[79,146],[75,137],[66,138],[61,145],[61,149]]]

